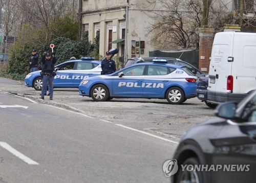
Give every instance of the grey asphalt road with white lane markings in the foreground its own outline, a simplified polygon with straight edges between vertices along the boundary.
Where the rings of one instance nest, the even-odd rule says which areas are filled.
[[[169,182],[173,142],[3,91],[0,114],[0,182]]]

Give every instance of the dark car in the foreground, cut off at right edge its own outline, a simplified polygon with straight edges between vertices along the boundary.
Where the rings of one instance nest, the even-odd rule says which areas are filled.
[[[182,137],[172,182],[255,182],[256,91],[240,103],[219,104],[216,115]]]

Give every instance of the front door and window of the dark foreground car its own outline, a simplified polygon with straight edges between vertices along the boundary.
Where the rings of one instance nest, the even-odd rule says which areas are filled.
[[[223,165],[223,171],[214,172],[214,182],[255,182],[256,95],[243,108],[241,120],[228,121],[218,138],[211,140],[212,163]]]

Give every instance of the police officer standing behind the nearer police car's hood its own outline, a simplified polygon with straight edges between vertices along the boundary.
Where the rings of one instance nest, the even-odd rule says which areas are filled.
[[[101,74],[111,74],[116,72],[116,63],[111,59],[110,52],[106,52],[106,57],[101,61]]]

